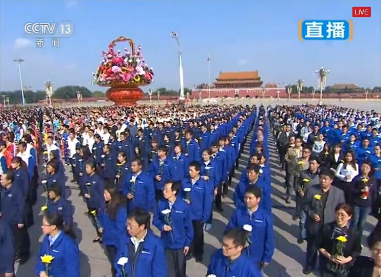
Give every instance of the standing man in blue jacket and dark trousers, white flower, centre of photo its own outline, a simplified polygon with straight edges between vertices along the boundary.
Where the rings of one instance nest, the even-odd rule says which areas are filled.
[[[200,176],[201,166],[199,162],[189,164],[189,177],[181,182],[181,195],[190,204],[190,219],[192,219],[194,239],[192,242],[192,254],[196,262],[202,261],[204,255],[204,223],[208,220],[213,193],[208,183]]]

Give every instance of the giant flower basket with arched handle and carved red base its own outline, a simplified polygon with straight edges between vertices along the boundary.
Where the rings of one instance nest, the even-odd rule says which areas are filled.
[[[124,52],[115,52],[116,42],[127,41],[131,52],[124,48]],[[110,42],[108,52],[102,51],[103,60],[96,73],[93,73],[92,83],[99,86],[111,87],[106,96],[116,105],[133,106],[143,97],[144,93],[139,88],[152,82],[153,70],[149,68],[141,55],[141,47],[135,52],[132,39],[118,37]]]

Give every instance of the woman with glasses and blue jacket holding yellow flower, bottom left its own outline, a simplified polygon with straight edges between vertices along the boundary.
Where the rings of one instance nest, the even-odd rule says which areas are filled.
[[[65,234],[62,216],[45,214],[42,218],[41,228],[45,237],[37,255],[35,271],[37,276],[80,277],[78,244]],[[43,262],[43,259],[49,258],[51,259],[50,264]]]

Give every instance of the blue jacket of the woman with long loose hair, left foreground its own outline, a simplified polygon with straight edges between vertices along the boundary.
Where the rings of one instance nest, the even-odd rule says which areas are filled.
[[[126,234],[127,209],[118,207],[115,218],[112,219],[103,205],[98,212],[98,219],[103,228],[103,243],[105,245],[118,245],[118,239]]]

